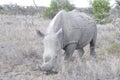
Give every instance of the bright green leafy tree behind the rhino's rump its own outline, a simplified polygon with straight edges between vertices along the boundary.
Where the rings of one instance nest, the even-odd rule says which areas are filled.
[[[93,14],[97,22],[109,15],[110,6],[109,0],[93,0]]]

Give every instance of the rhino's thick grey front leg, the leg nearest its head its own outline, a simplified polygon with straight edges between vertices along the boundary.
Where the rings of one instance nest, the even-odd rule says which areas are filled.
[[[65,47],[65,60],[71,60],[74,50],[76,49],[75,43],[69,44]]]

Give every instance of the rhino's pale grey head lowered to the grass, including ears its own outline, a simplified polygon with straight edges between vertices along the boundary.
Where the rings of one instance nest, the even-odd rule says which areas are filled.
[[[43,35],[39,32],[41,36],[44,36],[43,45],[44,45],[44,53],[43,53],[43,64],[40,66],[41,71],[50,71],[56,72],[60,53],[61,53],[61,41],[59,39],[59,35],[61,31],[57,33],[51,33],[47,35]]]

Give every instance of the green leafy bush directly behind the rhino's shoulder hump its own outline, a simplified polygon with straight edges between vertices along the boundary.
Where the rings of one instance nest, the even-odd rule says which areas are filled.
[[[43,11],[43,17],[53,18],[61,9],[70,11],[74,9],[74,7],[67,0],[64,2],[60,2],[59,0],[51,0],[50,7]]]

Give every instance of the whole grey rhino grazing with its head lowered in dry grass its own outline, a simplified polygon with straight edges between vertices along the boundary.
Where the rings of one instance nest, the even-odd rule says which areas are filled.
[[[84,47],[90,44],[90,54],[95,57],[97,28],[95,21],[77,10],[60,11],[51,21],[46,34],[37,30],[44,37],[44,53],[41,71],[56,72],[61,50],[65,51],[65,60],[69,61],[77,49],[80,58]]]

